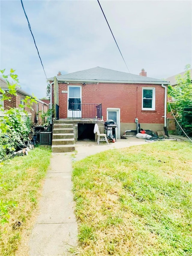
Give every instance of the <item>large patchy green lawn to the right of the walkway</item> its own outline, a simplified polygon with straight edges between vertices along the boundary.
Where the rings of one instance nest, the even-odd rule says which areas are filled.
[[[78,255],[192,255],[192,144],[159,141],[74,163]]]

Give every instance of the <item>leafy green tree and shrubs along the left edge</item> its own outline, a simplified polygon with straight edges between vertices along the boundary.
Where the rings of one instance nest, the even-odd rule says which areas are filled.
[[[15,70],[10,69],[10,73],[5,75],[5,69],[0,70],[1,77],[3,77],[8,86],[8,92],[5,92],[0,88],[0,93],[2,95],[1,101],[11,101],[10,95],[16,95],[16,86],[18,86],[18,76],[14,73]],[[7,78],[10,77],[13,79],[13,83],[10,83]],[[24,99],[25,106],[22,104],[19,105],[19,108],[9,108],[4,110],[0,105],[0,110],[3,113],[3,116],[0,117],[0,159],[4,158],[7,151],[14,150],[14,142],[10,142],[7,138],[7,135],[10,136],[13,140],[26,139],[30,132],[30,122],[29,119],[27,122],[23,119],[23,113],[27,115],[27,112],[24,110],[24,107],[32,108],[33,102],[36,103],[35,96],[29,97],[26,96]],[[2,164],[2,163],[1,163]],[[1,179],[1,166],[0,166],[0,188],[6,189],[6,183],[2,182]],[[15,208],[17,206],[14,201],[4,201],[0,199],[0,224],[8,222],[10,215],[8,213],[10,208]]]

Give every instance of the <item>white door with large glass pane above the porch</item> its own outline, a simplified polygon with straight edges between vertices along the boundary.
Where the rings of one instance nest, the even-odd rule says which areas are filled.
[[[67,117],[81,118],[81,86],[68,86]]]

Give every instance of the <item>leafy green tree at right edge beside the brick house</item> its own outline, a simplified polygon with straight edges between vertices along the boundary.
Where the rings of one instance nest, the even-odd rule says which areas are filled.
[[[185,66],[185,74],[182,78],[177,77],[176,86],[168,86],[168,96],[172,97],[170,102],[171,109],[185,131],[189,136],[192,135],[192,80],[190,75],[190,65]],[[168,111],[171,112],[168,104]]]

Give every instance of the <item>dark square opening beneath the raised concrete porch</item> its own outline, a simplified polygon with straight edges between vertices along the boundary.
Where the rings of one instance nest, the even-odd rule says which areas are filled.
[[[95,141],[94,127],[95,124],[78,124],[78,140]]]

